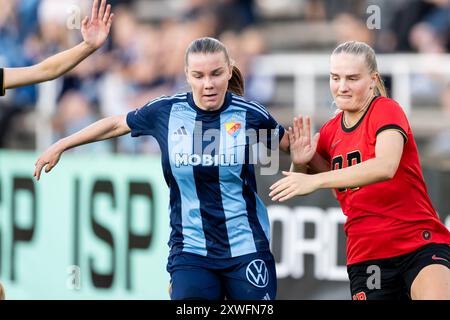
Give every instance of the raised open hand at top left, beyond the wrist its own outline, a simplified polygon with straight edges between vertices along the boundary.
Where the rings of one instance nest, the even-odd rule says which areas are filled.
[[[100,48],[106,41],[114,14],[111,13],[111,5],[106,5],[106,0],[101,0],[98,7],[98,0],[92,3],[91,18],[85,17],[81,24],[81,34],[84,42],[94,50]]]

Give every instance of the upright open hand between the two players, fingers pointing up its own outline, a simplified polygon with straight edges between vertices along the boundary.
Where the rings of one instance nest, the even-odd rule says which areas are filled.
[[[305,120],[303,123],[303,120]],[[319,133],[311,139],[311,119],[300,115],[294,118],[293,128],[289,127],[289,148],[294,165],[308,164],[316,153]]]

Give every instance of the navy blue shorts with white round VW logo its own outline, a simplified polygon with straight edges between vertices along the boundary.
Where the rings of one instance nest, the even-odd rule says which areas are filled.
[[[169,257],[172,300],[274,300],[275,259],[257,252],[228,259],[191,253]]]

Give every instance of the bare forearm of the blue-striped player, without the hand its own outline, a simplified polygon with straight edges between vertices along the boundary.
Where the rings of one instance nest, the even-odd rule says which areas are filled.
[[[122,136],[130,132],[129,128],[121,125],[123,122],[124,116],[101,119],[77,133],[59,140],[58,148],[65,151],[83,144]]]

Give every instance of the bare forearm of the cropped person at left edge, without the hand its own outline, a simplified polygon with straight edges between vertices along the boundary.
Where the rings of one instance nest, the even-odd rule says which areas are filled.
[[[83,41],[39,64],[24,68],[5,68],[5,89],[53,80],[73,69],[94,51],[94,48]]]

